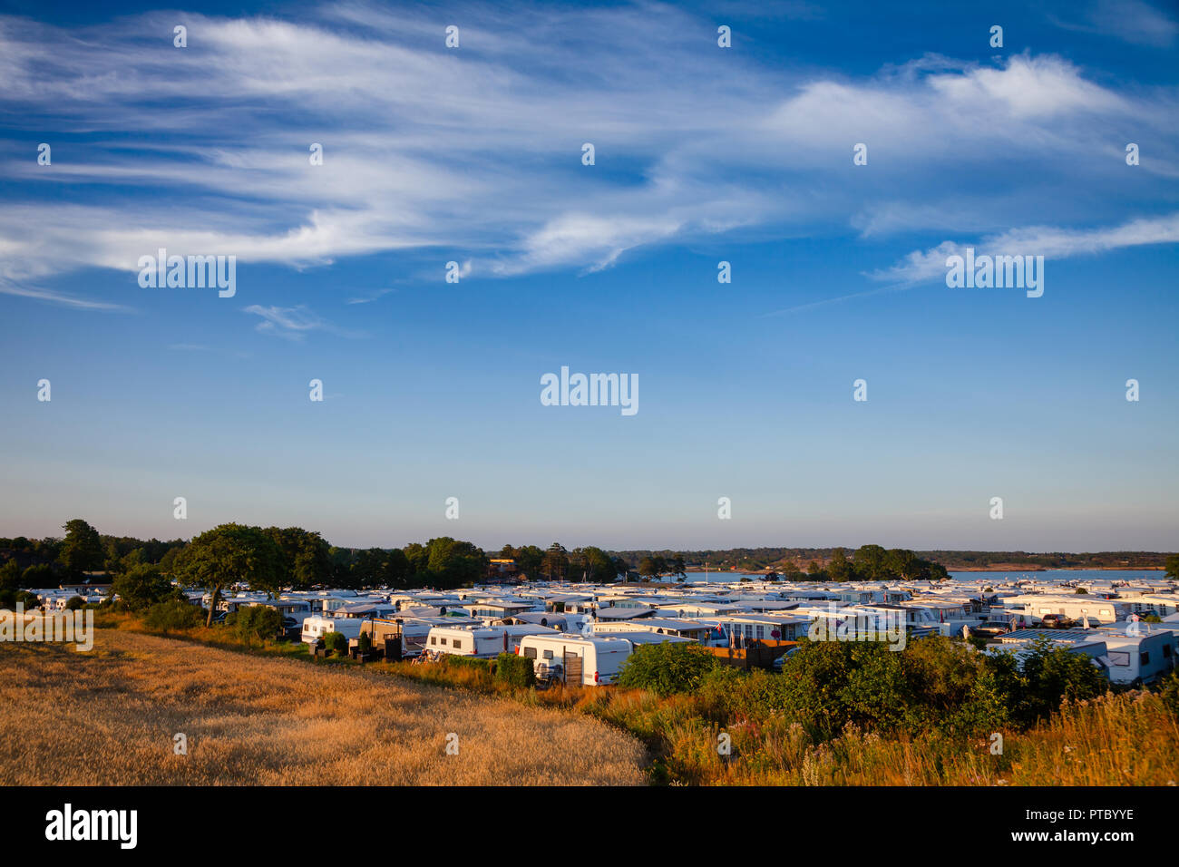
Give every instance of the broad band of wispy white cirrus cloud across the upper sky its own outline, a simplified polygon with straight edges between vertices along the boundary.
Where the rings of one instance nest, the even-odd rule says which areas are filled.
[[[1013,206],[1066,225],[1175,201],[1152,185],[1179,177],[1175,88],[1115,87],[1060,57],[930,54],[849,75],[720,51],[711,21],[661,4],[460,18],[447,51],[434,17],[351,2],[70,29],[0,17],[0,110],[51,140],[88,131],[51,166],[8,147],[0,177],[21,192],[0,209],[0,280],[130,272],[159,247],[295,268],[446,249],[475,275],[592,271],[738,228],[1000,231]],[[1146,143],[1134,176],[1122,140]],[[851,165],[858,142],[868,166]],[[1060,195],[1079,173],[1081,202]]]

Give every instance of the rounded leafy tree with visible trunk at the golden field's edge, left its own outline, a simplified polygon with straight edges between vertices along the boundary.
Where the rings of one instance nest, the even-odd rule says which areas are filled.
[[[276,593],[286,577],[284,565],[282,550],[262,528],[222,524],[189,543],[172,569],[184,584],[210,592],[205,619],[210,625],[222,590],[243,582],[253,590]]]

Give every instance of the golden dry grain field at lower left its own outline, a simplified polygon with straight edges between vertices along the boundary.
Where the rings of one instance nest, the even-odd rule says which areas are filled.
[[[0,645],[0,707],[6,786],[646,781],[637,740],[573,711],[113,629]]]

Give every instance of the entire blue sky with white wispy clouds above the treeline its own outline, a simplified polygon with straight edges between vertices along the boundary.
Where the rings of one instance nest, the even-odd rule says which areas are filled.
[[[759,6],[8,2],[0,534],[1174,549],[1173,5]]]

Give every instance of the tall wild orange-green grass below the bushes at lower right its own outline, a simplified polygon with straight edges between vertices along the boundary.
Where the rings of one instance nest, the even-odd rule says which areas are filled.
[[[635,734],[661,731],[659,761],[676,782],[719,786],[1175,786],[1179,724],[1158,695],[1107,694],[1063,704],[1025,733],[989,737],[930,733],[882,737],[848,729],[812,743],[802,727],[771,718],[717,725],[692,716],[684,702],[666,705],[644,694],[618,695],[605,716],[646,720]],[[644,708],[643,705],[646,704]],[[630,707],[621,707],[630,705]],[[718,735],[732,753],[717,751]]]

